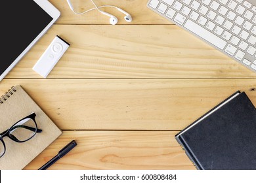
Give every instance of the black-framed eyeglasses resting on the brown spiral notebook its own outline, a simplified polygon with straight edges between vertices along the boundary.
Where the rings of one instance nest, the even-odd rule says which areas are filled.
[[[37,129],[35,116],[36,114],[33,112],[32,114],[16,122],[16,124],[12,125],[3,133],[0,133],[0,158],[5,154],[6,150],[3,137],[9,137],[14,142],[26,142],[32,139],[36,133],[42,132],[41,129]]]

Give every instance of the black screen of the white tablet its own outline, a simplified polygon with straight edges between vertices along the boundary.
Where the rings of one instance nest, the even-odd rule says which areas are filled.
[[[33,0],[8,0],[1,3],[0,75],[53,20]]]

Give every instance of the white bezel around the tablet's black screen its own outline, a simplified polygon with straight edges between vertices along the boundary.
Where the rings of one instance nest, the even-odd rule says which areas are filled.
[[[60,11],[55,8],[49,1],[47,0],[33,0],[39,7],[43,8],[45,12],[47,12],[53,20],[35,37],[35,39],[28,45],[28,47],[16,58],[11,65],[0,75],[0,81],[11,71],[11,69],[22,59],[22,57],[32,48],[32,46],[37,42],[46,32],[47,30],[56,22],[56,20],[60,17]],[[33,15],[32,15],[33,16]]]

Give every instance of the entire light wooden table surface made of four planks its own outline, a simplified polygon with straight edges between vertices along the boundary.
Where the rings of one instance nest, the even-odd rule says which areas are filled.
[[[91,1],[71,0],[77,12]],[[256,73],[161,18],[147,0],[97,0],[131,14],[117,25],[96,10],[75,15],[50,0],[56,24],[0,82],[20,84],[63,134],[25,169],[38,169],[68,142],[77,147],[49,169],[195,169],[175,134],[237,90],[256,105]],[[32,70],[60,35],[71,46],[45,79]]]

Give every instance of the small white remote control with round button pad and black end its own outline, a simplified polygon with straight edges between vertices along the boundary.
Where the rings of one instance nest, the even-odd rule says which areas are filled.
[[[46,78],[69,46],[70,44],[68,42],[57,35],[41,58],[35,63],[33,70]]]

